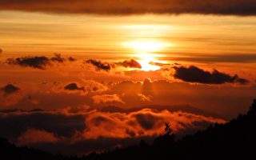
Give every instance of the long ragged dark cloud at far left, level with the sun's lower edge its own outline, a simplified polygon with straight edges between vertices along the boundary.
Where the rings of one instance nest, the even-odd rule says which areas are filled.
[[[68,58],[68,60],[70,61],[70,58]],[[66,58],[62,58],[61,54],[54,54],[54,57],[52,58],[47,58],[45,56],[8,58],[6,60],[6,63],[10,65],[18,65],[18,66],[32,67],[40,70],[46,70],[46,66],[51,65],[53,62],[62,63],[65,61],[66,61]]]

